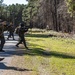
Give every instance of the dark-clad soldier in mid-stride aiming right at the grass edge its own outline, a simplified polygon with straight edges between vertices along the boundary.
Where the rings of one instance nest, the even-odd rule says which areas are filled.
[[[25,28],[24,27],[24,23],[20,23],[20,28],[18,29],[18,35],[20,37],[20,40],[19,42],[16,44],[17,47],[19,47],[18,45],[19,44],[24,44],[25,48],[28,49],[27,45],[26,45],[26,40],[25,40],[25,37],[24,37],[24,33],[28,31],[28,28]]]

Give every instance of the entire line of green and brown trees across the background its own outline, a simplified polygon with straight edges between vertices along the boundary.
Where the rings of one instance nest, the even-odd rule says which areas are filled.
[[[0,0],[0,17],[17,26],[24,21],[30,28],[75,32],[74,0],[27,0],[27,5],[7,6]]]

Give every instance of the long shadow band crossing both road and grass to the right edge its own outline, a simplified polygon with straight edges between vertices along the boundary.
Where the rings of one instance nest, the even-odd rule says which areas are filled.
[[[57,58],[64,58],[64,59],[75,59],[75,56],[57,52],[57,51],[46,51],[42,48],[34,48],[30,50],[25,49],[18,49],[16,51],[7,51],[6,54],[11,54],[9,56],[18,55],[18,56],[24,56],[24,55],[30,55],[30,56],[42,56],[42,57],[57,57]]]

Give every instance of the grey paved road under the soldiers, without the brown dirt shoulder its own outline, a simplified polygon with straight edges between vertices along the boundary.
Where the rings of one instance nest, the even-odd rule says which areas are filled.
[[[15,40],[12,40],[12,38],[10,38],[10,40],[7,40],[8,34],[6,32],[4,33],[4,35],[5,35],[6,43],[3,49],[5,52],[0,52],[0,57],[4,57],[5,59],[0,62],[0,75],[2,75],[1,73],[3,72],[3,70],[7,69],[7,66],[11,63],[11,60],[15,55],[15,51],[16,51],[15,45],[18,42],[17,35],[15,35]]]

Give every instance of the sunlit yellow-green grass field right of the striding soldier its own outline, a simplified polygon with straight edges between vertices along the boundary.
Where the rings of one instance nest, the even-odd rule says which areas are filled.
[[[44,33],[28,34],[25,66],[35,75],[75,75],[75,40],[49,37]]]

